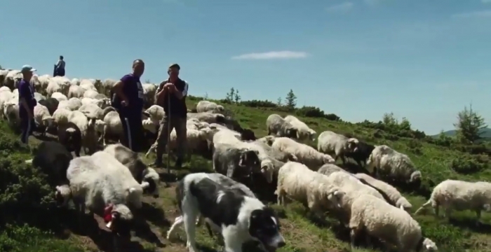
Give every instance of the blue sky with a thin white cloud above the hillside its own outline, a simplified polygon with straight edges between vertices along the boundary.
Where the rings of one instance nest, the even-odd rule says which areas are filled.
[[[190,94],[276,101],[351,122],[394,112],[426,133],[451,130],[472,102],[491,118],[491,0],[4,0],[0,64],[69,78],[143,79],[182,66]],[[490,122],[491,123],[491,122]]]

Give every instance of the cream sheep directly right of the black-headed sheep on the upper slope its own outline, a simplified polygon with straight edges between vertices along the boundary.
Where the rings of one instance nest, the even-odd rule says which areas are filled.
[[[377,177],[388,176],[396,181],[421,181],[421,172],[415,169],[408,155],[398,153],[389,146],[376,146],[367,161],[367,169]]]

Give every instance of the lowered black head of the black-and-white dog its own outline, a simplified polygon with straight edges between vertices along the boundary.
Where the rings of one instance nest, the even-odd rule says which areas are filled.
[[[269,252],[285,246],[278,217],[269,207],[255,209],[250,213],[249,234],[260,241]]]

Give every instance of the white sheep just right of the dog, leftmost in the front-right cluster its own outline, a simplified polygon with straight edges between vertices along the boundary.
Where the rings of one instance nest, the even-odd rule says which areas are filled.
[[[315,214],[332,207],[341,207],[344,192],[327,183],[325,176],[312,172],[298,162],[287,162],[278,171],[278,204],[285,205],[285,197],[297,200]]]

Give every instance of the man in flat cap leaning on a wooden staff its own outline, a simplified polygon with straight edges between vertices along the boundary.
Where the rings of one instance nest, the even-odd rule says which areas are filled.
[[[163,107],[166,116],[160,122],[159,135],[157,137],[154,165],[162,166],[162,155],[168,142],[169,133],[175,129],[177,137],[177,160],[175,167],[180,168],[186,152],[187,140],[187,107],[186,97],[188,83],[179,78],[181,67],[172,64],[167,71],[169,78],[160,83],[156,91],[156,104]],[[169,106],[170,105],[170,106]],[[169,127],[170,126],[170,127]],[[170,131],[169,131],[170,130]]]

